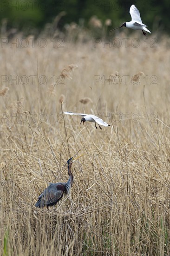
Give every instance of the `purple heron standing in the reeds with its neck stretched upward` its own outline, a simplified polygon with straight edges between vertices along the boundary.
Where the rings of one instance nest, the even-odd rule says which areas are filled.
[[[67,194],[70,195],[70,190],[72,188],[72,183],[73,183],[73,175],[71,172],[71,166],[74,161],[76,161],[80,156],[82,156],[82,155],[80,155],[77,158],[75,158],[76,155],[74,155],[72,158],[70,158],[67,161],[68,175],[70,176],[68,181],[66,183],[63,183],[63,182],[50,183],[50,185],[42,192],[42,194],[39,195],[39,197],[38,197],[39,200],[35,204],[36,207],[42,208],[42,207],[46,206],[48,209],[49,206],[55,205],[57,202],[59,202],[61,200],[61,198],[63,197],[64,193],[65,193],[65,195],[67,195]]]

